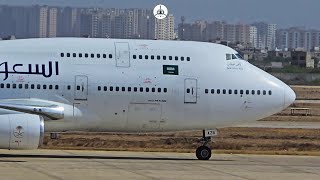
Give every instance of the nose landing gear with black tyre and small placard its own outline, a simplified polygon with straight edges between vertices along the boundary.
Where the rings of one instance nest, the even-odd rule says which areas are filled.
[[[208,144],[211,142],[212,137],[217,135],[218,131],[216,129],[203,130],[202,138],[200,139],[202,146],[196,150],[196,156],[199,160],[209,160],[211,158],[211,148],[208,147]]]

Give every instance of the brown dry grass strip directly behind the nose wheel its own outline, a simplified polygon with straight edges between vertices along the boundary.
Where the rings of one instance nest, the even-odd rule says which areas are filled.
[[[45,138],[45,149],[194,152],[201,132],[150,134],[63,133]],[[320,130],[223,128],[211,147],[217,153],[317,155]]]

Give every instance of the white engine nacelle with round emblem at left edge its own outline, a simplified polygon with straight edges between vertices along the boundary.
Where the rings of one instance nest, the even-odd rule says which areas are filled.
[[[31,114],[0,115],[0,149],[37,149],[44,138],[44,120]]]

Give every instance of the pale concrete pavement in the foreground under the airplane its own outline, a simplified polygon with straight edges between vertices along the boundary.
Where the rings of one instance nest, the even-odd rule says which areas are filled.
[[[320,179],[320,157],[0,150],[0,177],[19,179]]]

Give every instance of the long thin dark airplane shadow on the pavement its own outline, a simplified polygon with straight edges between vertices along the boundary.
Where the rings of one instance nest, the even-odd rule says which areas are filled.
[[[85,156],[85,155],[38,155],[38,154],[0,154],[0,158],[48,158],[48,159],[109,159],[109,160],[155,160],[155,161],[198,161],[190,158],[166,157],[125,157],[125,156]],[[213,161],[233,161],[213,159]],[[1,162],[1,160],[0,160]]]

